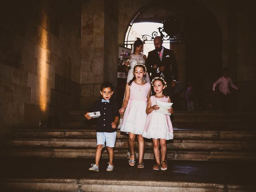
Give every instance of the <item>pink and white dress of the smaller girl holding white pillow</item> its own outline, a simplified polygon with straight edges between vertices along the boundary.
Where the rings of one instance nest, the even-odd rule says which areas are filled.
[[[169,97],[156,98],[152,95],[150,100],[151,106],[154,106],[156,104],[156,100],[168,102]],[[157,113],[156,110],[153,110],[148,114],[142,136],[149,139],[173,139],[172,122],[169,115]]]

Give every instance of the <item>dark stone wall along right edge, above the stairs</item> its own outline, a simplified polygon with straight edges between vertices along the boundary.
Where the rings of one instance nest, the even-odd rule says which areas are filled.
[[[256,108],[256,23],[255,6],[244,2],[237,6],[237,86],[239,108]]]

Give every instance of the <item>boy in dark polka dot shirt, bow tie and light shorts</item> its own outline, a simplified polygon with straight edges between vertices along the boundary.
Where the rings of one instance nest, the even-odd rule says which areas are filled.
[[[115,100],[110,99],[113,95],[113,85],[110,82],[104,82],[100,88],[100,94],[102,99],[94,102],[89,112],[100,111],[100,116],[97,118],[96,137],[97,148],[95,155],[95,164],[91,164],[90,171],[99,171],[99,161],[102,153],[102,149],[105,146],[108,150],[108,167],[107,171],[114,170],[113,158],[114,158],[114,146],[116,142],[116,125],[118,123],[120,114],[119,107]],[[90,120],[92,117],[86,112],[84,115],[86,119]]]

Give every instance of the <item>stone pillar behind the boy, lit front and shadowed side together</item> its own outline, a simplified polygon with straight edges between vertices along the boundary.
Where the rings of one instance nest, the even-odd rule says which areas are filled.
[[[118,0],[82,2],[81,108],[100,97],[100,85],[117,86]],[[115,95],[114,95],[115,97]]]

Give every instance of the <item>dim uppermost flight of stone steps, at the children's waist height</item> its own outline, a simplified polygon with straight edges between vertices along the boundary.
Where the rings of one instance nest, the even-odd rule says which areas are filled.
[[[226,114],[218,111],[176,111],[172,116],[172,124],[179,129],[214,129],[214,130],[250,130],[253,129],[254,112],[232,112]],[[96,119],[86,121],[84,111],[69,111],[62,128],[90,129]]]

